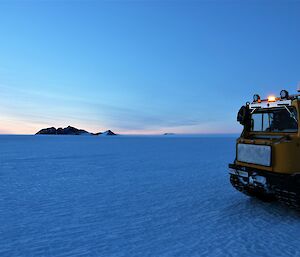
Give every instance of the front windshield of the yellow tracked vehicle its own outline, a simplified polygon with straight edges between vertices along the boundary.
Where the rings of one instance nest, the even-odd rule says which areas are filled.
[[[297,111],[294,107],[255,109],[251,115],[253,132],[297,132]]]

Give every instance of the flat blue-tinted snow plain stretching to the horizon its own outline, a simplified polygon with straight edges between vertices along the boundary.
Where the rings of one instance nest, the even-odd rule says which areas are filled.
[[[235,191],[233,137],[0,136],[0,256],[300,256],[300,215]]]

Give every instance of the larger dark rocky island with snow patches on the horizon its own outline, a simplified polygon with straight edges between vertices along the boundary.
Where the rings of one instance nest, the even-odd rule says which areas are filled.
[[[115,136],[114,132],[111,130],[107,130],[105,132],[98,132],[98,133],[90,133],[84,129],[77,129],[71,126],[68,126],[66,128],[44,128],[41,129],[39,132],[36,133],[36,135],[92,135],[92,136],[99,136],[99,135],[106,135],[106,136]]]

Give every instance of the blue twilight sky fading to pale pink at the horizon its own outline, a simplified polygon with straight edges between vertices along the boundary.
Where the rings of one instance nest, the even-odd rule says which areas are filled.
[[[236,133],[295,93],[298,1],[1,1],[0,133]]]

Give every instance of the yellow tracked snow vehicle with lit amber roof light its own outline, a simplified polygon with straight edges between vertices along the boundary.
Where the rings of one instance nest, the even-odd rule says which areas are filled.
[[[242,106],[237,121],[243,132],[236,158],[229,164],[230,182],[246,195],[277,199],[300,208],[300,94],[261,99]]]

